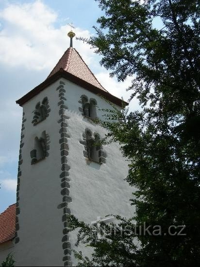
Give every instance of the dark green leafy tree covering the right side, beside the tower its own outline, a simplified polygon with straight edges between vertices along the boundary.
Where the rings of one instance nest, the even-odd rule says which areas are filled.
[[[130,114],[110,112],[108,118],[121,117],[123,123],[112,119],[99,123],[108,130],[106,140],[118,142],[130,159],[126,180],[137,188],[131,200],[136,213],[131,219],[121,218],[121,226],[133,227],[136,221],[143,234],[99,240],[91,226],[72,216],[71,229],[80,227],[77,245],[83,242],[94,248],[92,260],[81,252],[76,256],[84,266],[196,266],[200,264],[200,1],[99,0],[99,6],[105,16],[98,19],[97,36],[87,41],[102,56],[100,64],[111,70],[111,77],[124,81],[133,76],[131,98],[137,97],[142,107]],[[153,26],[158,19],[160,29]],[[153,235],[151,230],[145,235],[144,223],[159,225],[162,233]],[[185,226],[184,235],[171,231],[173,226]]]

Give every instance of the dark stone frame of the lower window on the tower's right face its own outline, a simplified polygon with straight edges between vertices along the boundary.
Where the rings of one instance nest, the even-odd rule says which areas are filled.
[[[88,128],[85,129],[84,133],[83,133],[83,139],[80,140],[80,144],[82,144],[84,146],[84,150],[83,150],[83,157],[85,157],[85,159],[88,162],[95,162],[98,164],[105,164],[106,163],[106,157],[107,157],[107,153],[105,152],[105,150],[103,149],[103,146],[96,146],[96,150],[98,151],[98,157],[99,157],[99,161],[95,161],[91,158],[88,157],[88,147],[87,147],[87,134],[89,134],[91,136],[91,139],[93,139],[93,141],[96,140],[96,137],[98,137],[98,139],[100,140],[100,134],[99,133],[92,133],[92,131]]]

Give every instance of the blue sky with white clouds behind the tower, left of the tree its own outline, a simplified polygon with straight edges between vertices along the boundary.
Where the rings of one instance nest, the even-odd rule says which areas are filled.
[[[0,0],[0,213],[16,202],[22,120],[16,100],[42,83],[67,50],[67,24],[73,23],[76,36],[88,38],[101,15],[94,0]],[[117,83],[87,44],[74,38],[73,46],[110,93],[129,99],[131,77]],[[130,109],[138,108],[132,100]]]

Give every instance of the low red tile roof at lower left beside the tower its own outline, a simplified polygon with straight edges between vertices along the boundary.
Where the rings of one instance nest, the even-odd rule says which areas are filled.
[[[0,244],[12,240],[16,230],[16,204],[0,214]]]

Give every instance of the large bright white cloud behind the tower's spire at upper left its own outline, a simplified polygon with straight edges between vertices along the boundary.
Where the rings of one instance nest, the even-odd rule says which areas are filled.
[[[57,14],[41,0],[24,4],[8,4],[0,10],[4,27],[0,31],[0,62],[11,67],[51,69],[69,45],[69,25],[56,29]],[[77,36],[90,36],[76,28]],[[77,50],[87,63],[93,56],[87,44],[75,40]]]

